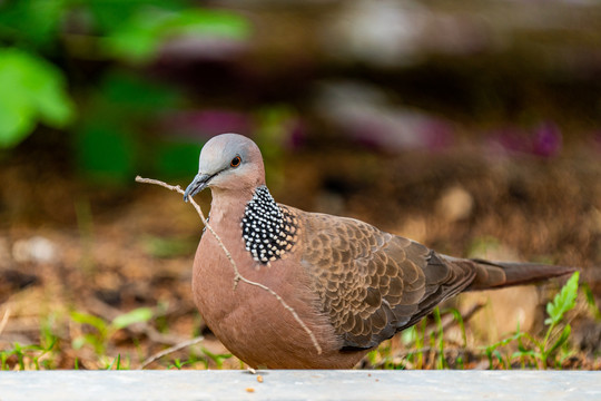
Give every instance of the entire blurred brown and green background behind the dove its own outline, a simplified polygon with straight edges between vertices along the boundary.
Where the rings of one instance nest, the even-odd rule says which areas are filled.
[[[601,2],[0,0],[2,369],[136,368],[200,334],[150,366],[240,366],[191,302],[198,216],[134,182],[186,186],[227,131],[278,202],[581,267],[570,361],[599,368]],[[560,284],[453,303],[464,349],[540,333]]]

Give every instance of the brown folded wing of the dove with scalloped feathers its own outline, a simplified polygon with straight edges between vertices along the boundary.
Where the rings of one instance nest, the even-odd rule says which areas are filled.
[[[304,213],[302,264],[343,349],[370,349],[474,278],[467,263],[353,218]]]

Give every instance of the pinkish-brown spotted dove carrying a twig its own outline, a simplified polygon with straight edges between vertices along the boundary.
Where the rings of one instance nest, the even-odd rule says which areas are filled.
[[[571,267],[439,254],[353,218],[278,204],[257,145],[223,134],[203,147],[184,199],[209,187],[210,226],[239,273],[277,293],[235,283],[214,235],[194,260],[195,303],[215,335],[253,368],[348,369],[382,341],[462,291],[525,284]]]

